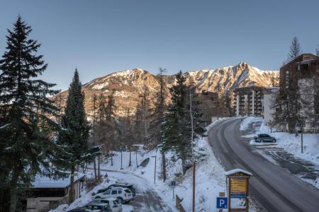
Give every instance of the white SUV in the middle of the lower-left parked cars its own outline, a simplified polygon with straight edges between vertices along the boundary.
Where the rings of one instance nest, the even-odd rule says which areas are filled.
[[[121,188],[121,187],[113,187],[111,189],[106,190],[103,193],[96,194],[95,199],[109,199],[116,198],[121,202],[128,203],[133,199],[133,194],[130,189]]]

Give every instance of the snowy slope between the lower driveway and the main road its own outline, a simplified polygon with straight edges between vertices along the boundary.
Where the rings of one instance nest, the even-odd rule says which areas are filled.
[[[208,129],[210,129],[214,122]],[[205,155],[196,163],[196,211],[215,211],[216,210],[216,196],[219,192],[225,191],[225,170],[222,165],[218,162],[211,146],[209,146],[207,137],[199,138],[196,140],[198,151]],[[160,179],[161,172],[161,154],[157,154],[157,173],[156,182],[154,183],[154,172],[155,172],[155,151],[149,153],[138,153],[138,164],[150,158],[150,162],[146,167],[136,167],[136,154],[131,154],[132,166],[128,166],[129,153],[124,152],[123,158],[123,170],[124,172],[131,172],[134,175],[138,175],[144,178],[147,182],[150,182],[150,186],[154,187],[159,196],[167,203],[173,211],[176,211],[175,199],[173,198],[173,190],[170,187],[172,180],[176,181],[176,187],[174,194],[177,194],[183,201],[182,206],[186,211],[191,211],[192,208],[192,168],[189,169],[183,177],[176,177],[175,174],[181,173],[181,162],[177,160],[172,162],[171,158],[174,158],[173,153],[167,153],[167,180],[162,182]],[[117,153],[116,157],[113,158],[113,166],[111,162],[103,164],[101,166],[106,170],[121,170],[121,153]]]

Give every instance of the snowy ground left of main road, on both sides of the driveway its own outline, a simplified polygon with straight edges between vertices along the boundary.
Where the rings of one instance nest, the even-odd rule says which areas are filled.
[[[219,119],[213,124],[207,126],[211,129],[212,126],[223,121]],[[225,170],[213,154],[212,148],[208,143],[207,137],[196,139],[196,150],[203,155],[196,163],[196,211],[216,211],[216,197],[219,192],[226,192]],[[155,155],[157,155],[156,174],[155,174]],[[131,166],[129,166],[129,158],[131,157]],[[122,158],[122,168],[121,168]],[[143,160],[149,158],[149,162],[145,167],[139,166]],[[91,192],[82,194],[82,197],[74,201],[70,206],[62,205],[59,208],[50,212],[67,211],[77,206],[83,206],[93,199],[92,192],[96,192],[101,187],[107,187],[108,184],[114,182],[129,182],[135,185],[138,192],[137,196],[145,196],[147,204],[135,201],[130,205],[123,205],[123,211],[177,211],[176,200],[174,199],[173,190],[170,183],[174,180],[176,187],[174,194],[178,195],[183,201],[182,206],[186,211],[191,211],[192,208],[192,168],[182,177],[177,177],[181,173],[181,161],[174,160],[174,153],[167,153],[167,180],[162,181],[161,177],[161,153],[159,151],[150,151],[138,153],[116,152],[113,157],[113,165],[107,160],[101,164],[103,173],[106,171],[110,178],[110,182],[103,182],[95,187]],[[156,178],[154,178],[156,175]],[[156,179],[156,182],[154,180]],[[156,193],[153,195],[153,193]],[[152,197],[149,195],[152,194]],[[159,196],[160,201],[148,202],[149,199],[154,199]],[[156,198],[156,197],[155,197]],[[134,203],[135,202],[135,203]],[[135,205],[134,205],[135,204]],[[158,208],[158,205],[161,205]],[[137,207],[140,209],[137,209]],[[144,208],[145,207],[145,208]],[[225,210],[224,210],[225,211]],[[253,211],[253,210],[252,210]]]

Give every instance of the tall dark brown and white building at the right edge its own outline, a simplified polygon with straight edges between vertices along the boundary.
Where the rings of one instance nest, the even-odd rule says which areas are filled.
[[[287,131],[294,131],[302,122],[305,131],[319,131],[319,57],[301,54],[280,69],[280,94],[289,102],[291,115],[281,123]],[[292,102],[293,99],[295,102]],[[290,101],[289,101],[290,100]],[[287,103],[288,105],[288,103]],[[281,108],[285,110],[286,108]]]

